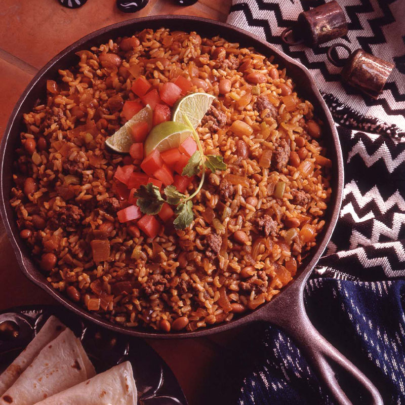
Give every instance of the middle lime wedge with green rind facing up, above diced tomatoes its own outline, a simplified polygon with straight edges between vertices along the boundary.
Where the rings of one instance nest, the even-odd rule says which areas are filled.
[[[145,155],[153,149],[163,152],[168,149],[178,148],[180,144],[192,136],[189,127],[185,124],[165,121],[152,128],[144,142]]]

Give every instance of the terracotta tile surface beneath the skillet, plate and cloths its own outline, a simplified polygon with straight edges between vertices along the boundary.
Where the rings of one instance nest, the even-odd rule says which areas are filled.
[[[225,21],[231,0],[200,0],[189,7],[170,0],[150,0],[134,14],[118,11],[115,0],[88,0],[69,10],[57,0],[2,0],[0,11],[0,134],[14,104],[35,73],[53,56],[80,37],[107,25],[136,17],[186,14]],[[180,29],[181,27],[179,27]],[[55,304],[21,273],[3,224],[0,228],[0,310],[16,305]],[[182,386],[190,405],[207,403],[203,382],[211,374],[228,336],[186,340],[148,340]]]

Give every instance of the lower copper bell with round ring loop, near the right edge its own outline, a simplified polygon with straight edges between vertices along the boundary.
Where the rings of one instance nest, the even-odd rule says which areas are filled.
[[[349,56],[347,59],[337,59],[333,51],[344,48]],[[341,75],[343,82],[361,90],[363,93],[377,99],[387,83],[394,64],[369,54],[362,49],[353,53],[350,48],[341,43],[332,45],[328,49],[328,59],[335,66],[343,66]]]

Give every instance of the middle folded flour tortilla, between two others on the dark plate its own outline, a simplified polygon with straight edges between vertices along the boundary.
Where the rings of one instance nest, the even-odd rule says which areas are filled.
[[[95,374],[82,343],[65,329],[2,395],[0,405],[33,405]]]

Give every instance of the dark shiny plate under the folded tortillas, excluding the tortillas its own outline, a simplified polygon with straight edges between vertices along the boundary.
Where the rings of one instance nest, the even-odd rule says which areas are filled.
[[[97,373],[132,364],[139,405],[187,405],[169,366],[143,340],[96,327],[56,306],[16,307],[0,313],[0,372],[27,346],[45,321],[57,316],[83,343]]]

